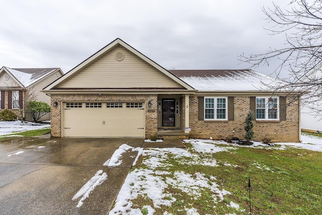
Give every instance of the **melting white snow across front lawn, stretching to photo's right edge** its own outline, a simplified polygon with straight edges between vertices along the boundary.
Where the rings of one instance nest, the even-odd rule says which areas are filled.
[[[113,155],[118,159],[125,149],[132,149],[138,151],[137,158],[142,155],[145,159],[142,161],[146,168],[135,169],[131,171],[125,179],[125,182],[116,198],[115,206],[109,212],[112,214],[142,214],[141,209],[147,208],[147,214],[153,214],[154,208],[160,208],[165,206],[171,207],[171,205],[177,201],[172,193],[167,191],[169,187],[175,187],[182,192],[191,196],[192,199],[200,196],[205,190],[212,192],[213,203],[216,204],[224,199],[224,196],[233,192],[233,190],[224,190],[220,188],[220,183],[215,176],[205,176],[203,173],[196,172],[193,175],[185,173],[184,171],[159,171],[158,167],[168,169],[172,164],[167,161],[176,159],[177,162],[185,165],[204,165],[204,166],[218,166],[216,160],[213,159],[211,154],[223,151],[233,151],[237,147],[250,147],[250,148],[263,148],[263,149],[281,149],[285,150],[288,147],[307,149],[312,151],[322,152],[322,138],[302,135],[302,142],[294,143],[276,143],[275,146],[267,146],[259,141],[253,141],[252,146],[240,146],[237,144],[228,144],[225,141],[205,140],[205,139],[186,139],[185,142],[189,142],[192,145],[192,149],[182,148],[127,148],[121,146],[120,150]],[[136,160],[137,160],[136,158]],[[136,162],[135,160],[135,162]],[[135,165],[133,163],[133,166]],[[117,162],[114,162],[117,163]],[[225,166],[232,166],[230,164],[224,164]],[[266,166],[254,163],[257,168],[262,168],[270,171]],[[233,166],[236,167],[236,166]],[[142,208],[132,208],[133,199],[138,196],[147,196],[153,202],[153,205],[145,205]],[[227,207],[231,207],[236,211],[242,212],[245,209],[240,209],[239,204],[230,201],[226,204]],[[133,206],[134,207],[134,206]],[[199,214],[196,208],[185,208],[185,214]],[[168,211],[164,212],[164,215],[170,215]],[[184,213],[183,213],[184,214]],[[234,213],[229,213],[234,214]]]

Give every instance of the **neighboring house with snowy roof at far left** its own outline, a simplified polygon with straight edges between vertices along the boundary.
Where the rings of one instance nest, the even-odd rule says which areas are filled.
[[[47,85],[63,75],[60,68],[9,68],[0,69],[0,110],[10,109],[19,118],[32,121],[31,113],[27,111],[21,116],[19,108],[24,106],[26,93],[33,92],[34,100],[46,102],[50,105],[50,97],[40,92]],[[49,120],[50,114],[41,118]]]

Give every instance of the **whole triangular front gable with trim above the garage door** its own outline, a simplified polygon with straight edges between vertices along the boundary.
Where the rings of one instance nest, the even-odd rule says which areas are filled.
[[[121,39],[114,40],[93,54],[43,92],[80,90],[196,91]]]

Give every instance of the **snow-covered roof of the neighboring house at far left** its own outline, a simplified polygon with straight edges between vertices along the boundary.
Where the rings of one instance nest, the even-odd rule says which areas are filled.
[[[58,68],[9,68],[6,69],[24,86],[28,87],[31,84],[42,79],[46,75],[52,73]]]

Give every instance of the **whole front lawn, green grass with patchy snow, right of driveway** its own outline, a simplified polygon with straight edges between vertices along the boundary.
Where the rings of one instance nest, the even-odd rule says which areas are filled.
[[[194,139],[185,146],[142,149],[110,214],[248,214],[249,177],[252,214],[322,211],[322,152]]]

